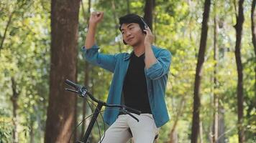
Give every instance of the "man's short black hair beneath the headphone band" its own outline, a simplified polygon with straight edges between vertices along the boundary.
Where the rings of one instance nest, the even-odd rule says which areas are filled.
[[[137,14],[127,14],[125,16],[122,16],[119,18],[119,30],[121,31],[121,26],[122,24],[131,24],[131,23],[135,23],[135,24],[139,24],[140,29],[142,29],[142,32],[144,34],[146,34],[145,30],[145,26],[147,26],[147,24],[145,23],[145,21],[143,20],[143,18],[141,16],[138,16]],[[123,40],[124,44],[127,44],[124,40]]]

